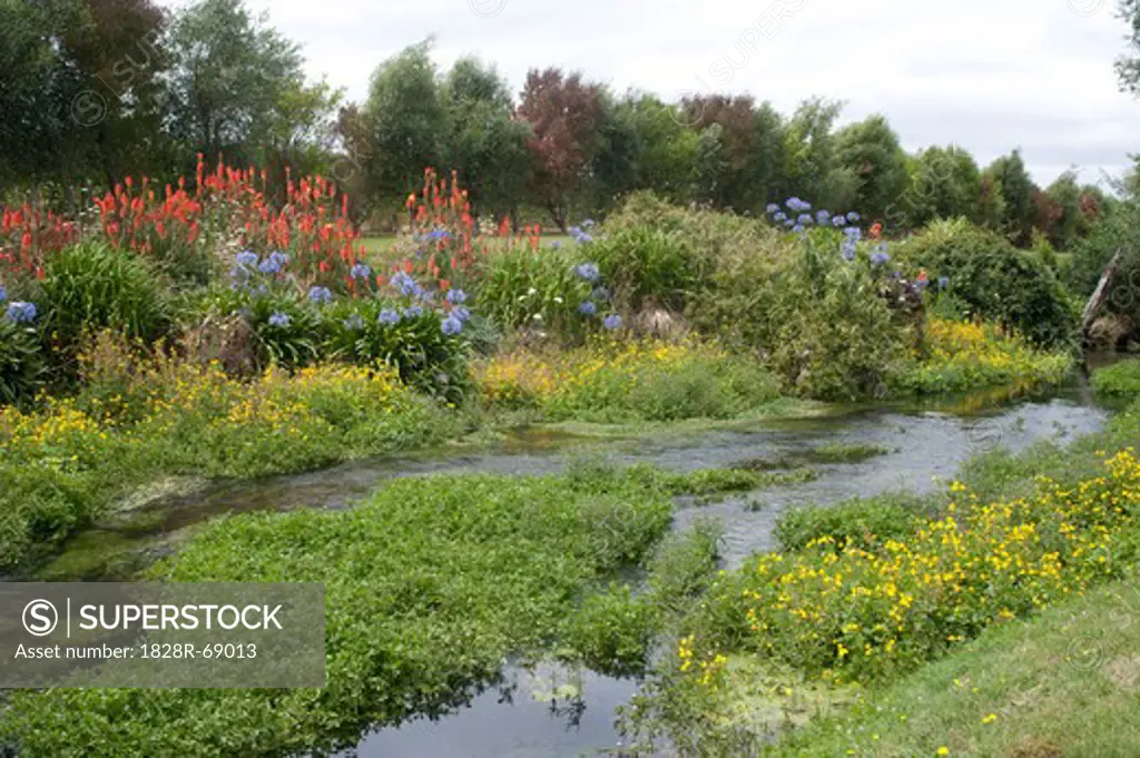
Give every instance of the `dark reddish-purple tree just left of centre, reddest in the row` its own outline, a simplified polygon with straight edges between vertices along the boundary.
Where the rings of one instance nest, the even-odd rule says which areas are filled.
[[[570,198],[584,188],[598,149],[602,88],[578,72],[531,70],[518,113],[532,130],[527,142],[532,195],[565,231]]]

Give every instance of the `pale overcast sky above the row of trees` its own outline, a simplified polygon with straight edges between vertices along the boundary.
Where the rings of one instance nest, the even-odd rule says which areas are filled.
[[[177,6],[177,0],[164,0]],[[1040,184],[1119,173],[1140,101],[1113,72],[1116,0],[249,0],[351,99],[376,65],[435,35],[442,66],[475,54],[518,92],[557,65],[675,100],[748,92],[790,113],[812,95],[845,120],[882,113],[913,150],[956,142],[985,165],[1020,147]]]

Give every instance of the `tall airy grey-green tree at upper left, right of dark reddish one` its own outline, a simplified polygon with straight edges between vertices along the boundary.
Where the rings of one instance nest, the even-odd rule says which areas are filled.
[[[252,17],[243,0],[187,7],[171,25],[169,49],[168,128],[186,153],[252,162],[296,117],[283,104],[303,90],[299,48],[264,15]]]

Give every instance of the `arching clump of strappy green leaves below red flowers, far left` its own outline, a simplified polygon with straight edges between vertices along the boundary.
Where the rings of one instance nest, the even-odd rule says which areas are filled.
[[[172,323],[155,269],[132,252],[98,242],[81,243],[48,260],[39,302],[43,332],[65,360],[74,356],[85,332],[109,328],[150,342]]]

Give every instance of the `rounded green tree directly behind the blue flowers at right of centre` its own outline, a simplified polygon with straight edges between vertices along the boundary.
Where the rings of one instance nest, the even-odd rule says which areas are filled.
[[[855,177],[853,210],[866,218],[882,218],[906,190],[906,154],[898,136],[881,115],[844,128],[837,137],[836,162]]]

